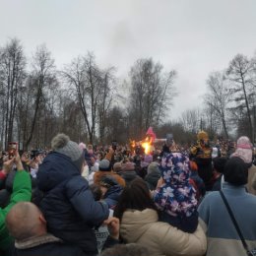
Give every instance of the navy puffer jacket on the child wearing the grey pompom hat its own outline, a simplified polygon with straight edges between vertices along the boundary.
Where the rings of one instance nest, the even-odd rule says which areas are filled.
[[[88,255],[96,255],[94,226],[107,219],[106,204],[96,202],[88,181],[70,158],[49,154],[39,166],[39,203],[48,231],[67,243],[80,246]]]

